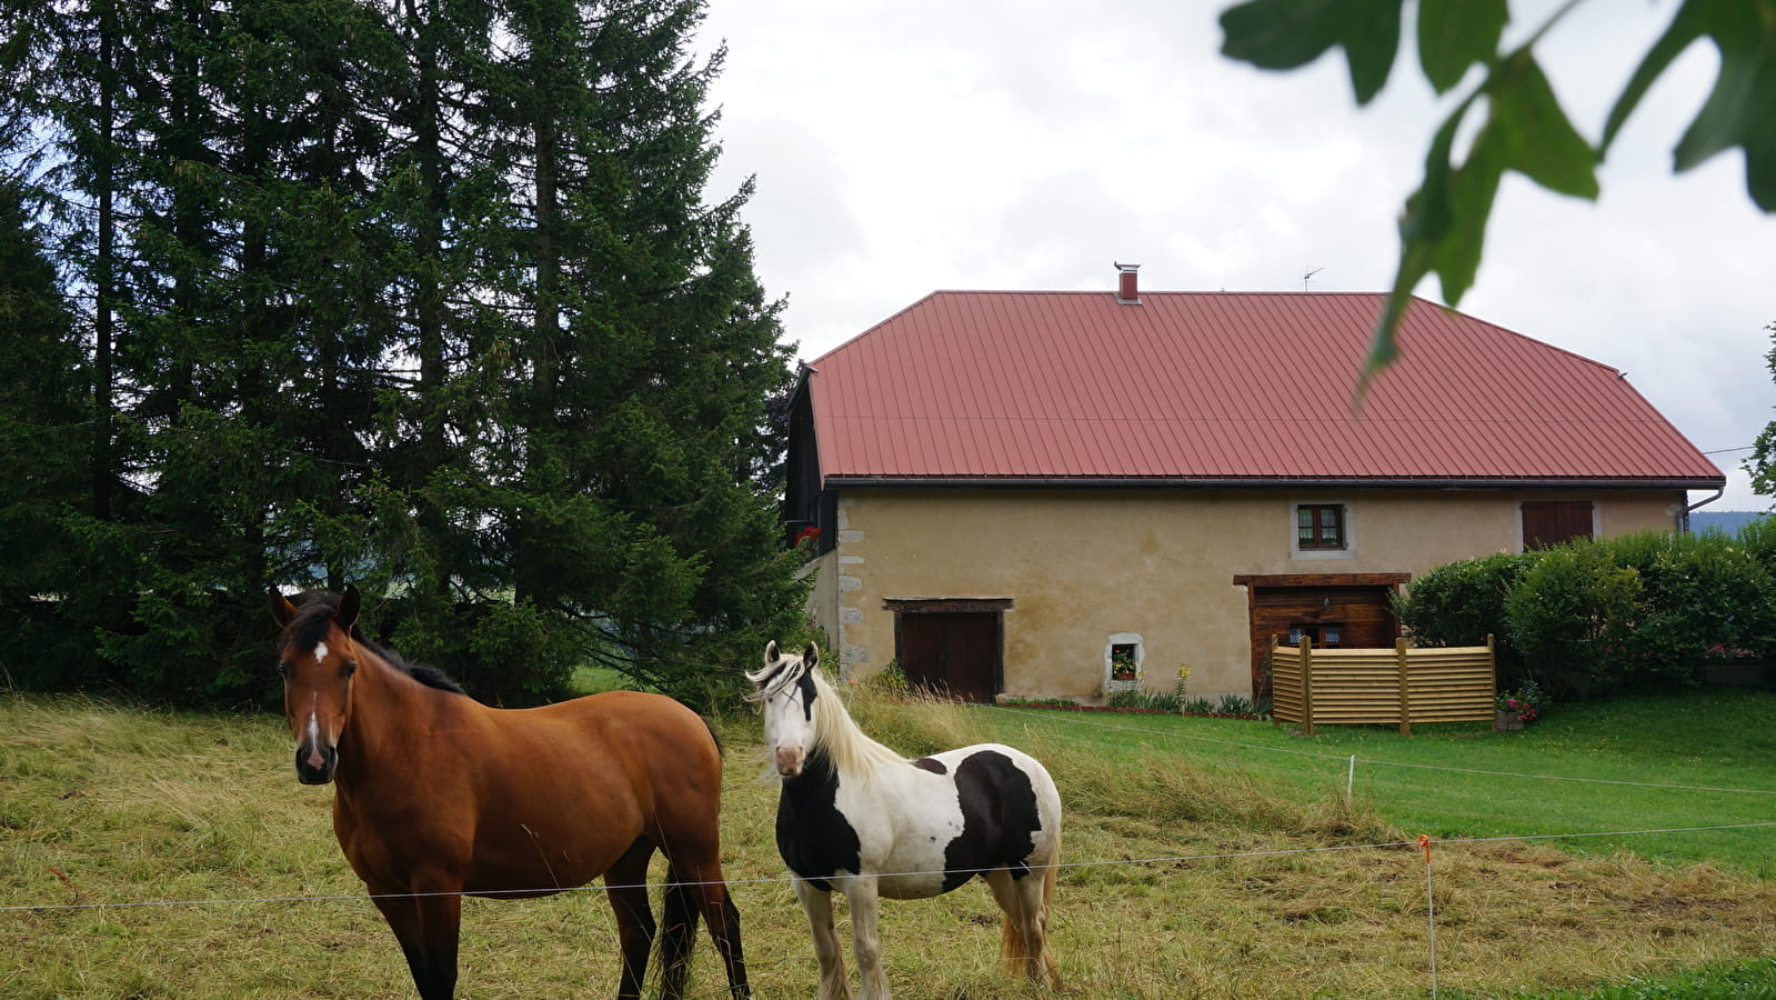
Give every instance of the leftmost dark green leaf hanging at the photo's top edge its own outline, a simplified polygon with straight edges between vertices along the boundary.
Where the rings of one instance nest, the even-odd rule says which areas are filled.
[[[1357,103],[1387,83],[1405,0],[1249,0],[1222,11],[1222,55],[1259,69],[1295,69],[1344,46]]]

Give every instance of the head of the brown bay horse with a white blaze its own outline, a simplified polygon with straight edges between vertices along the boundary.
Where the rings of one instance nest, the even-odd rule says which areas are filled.
[[[352,673],[359,663],[352,641],[357,609],[355,586],[346,586],[343,597],[314,595],[300,607],[272,590],[272,616],[284,631],[277,650],[284,719],[297,737],[297,780],[304,785],[332,782],[339,766],[339,734],[352,716]]]

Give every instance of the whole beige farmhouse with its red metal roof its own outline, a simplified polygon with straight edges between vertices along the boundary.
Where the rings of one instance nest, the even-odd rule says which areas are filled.
[[[970,700],[1263,693],[1392,645],[1460,558],[1685,529],[1724,478],[1623,373],[1380,293],[936,291],[803,368],[785,520],[851,677]]]

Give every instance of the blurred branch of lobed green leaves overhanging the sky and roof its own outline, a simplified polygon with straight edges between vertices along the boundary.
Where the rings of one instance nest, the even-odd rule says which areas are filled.
[[[1424,181],[1399,215],[1399,266],[1359,380],[1398,353],[1394,329],[1421,279],[1437,274],[1453,307],[1474,284],[1499,183],[1517,171],[1552,192],[1597,199],[1597,165],[1652,83],[1691,44],[1721,53],[1714,91],[1673,149],[1689,171],[1733,147],[1746,155],[1746,190],[1776,211],[1776,0],[1684,0],[1641,59],[1593,144],[1574,128],[1536,60],[1534,46],[1582,0],[1563,4],[1526,43],[1501,50],[1506,0],[1419,0],[1419,67],[1447,94],[1481,66],[1424,155]],[[1222,12],[1222,55],[1261,69],[1296,69],[1337,46],[1359,105],[1387,83],[1399,50],[1405,0],[1249,0]],[[1478,110],[1485,108],[1485,110]],[[1471,114],[1485,121],[1456,162],[1456,135]]]

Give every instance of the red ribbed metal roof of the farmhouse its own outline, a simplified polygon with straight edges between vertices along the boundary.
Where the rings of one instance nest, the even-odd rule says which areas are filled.
[[[1616,369],[1380,293],[936,291],[815,359],[840,481],[1724,483]]]

